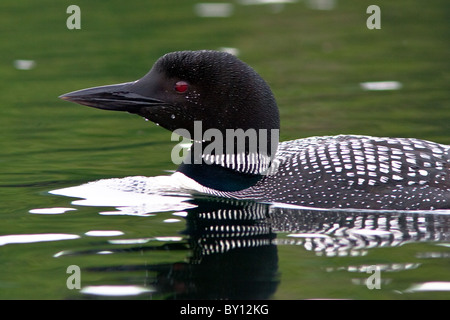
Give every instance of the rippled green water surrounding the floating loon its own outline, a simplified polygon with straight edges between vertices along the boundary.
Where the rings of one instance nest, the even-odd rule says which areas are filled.
[[[81,29],[68,30],[66,3],[3,0],[0,298],[107,298],[95,291],[104,285],[138,299],[450,298],[448,214],[363,219],[363,213],[281,210],[252,219],[249,228],[264,231],[249,237],[216,227],[223,221],[198,218],[228,208],[220,202],[193,201],[197,209],[181,216],[176,210],[112,215],[102,213],[119,212],[114,206],[82,206],[49,193],[176,168],[170,132],[133,115],[57,99],[136,80],[174,50],[237,48],[277,97],[282,140],[352,133],[449,144],[448,2],[377,1],[380,30],[366,27],[371,1],[337,0],[332,10],[312,9],[311,2],[232,2],[230,17],[203,18],[195,1],[83,0],[76,3]],[[35,65],[19,70],[20,59]],[[374,81],[401,88],[360,86]],[[49,214],[58,207],[76,210]],[[245,204],[232,210],[254,212]],[[282,222],[291,215],[298,220],[292,228]],[[370,222],[369,232],[361,221]],[[98,230],[116,233],[92,233]],[[214,239],[224,247],[206,254]],[[232,248],[252,240],[258,244]],[[81,290],[67,286],[71,265],[81,269]],[[366,285],[369,266],[380,271],[380,289]]]

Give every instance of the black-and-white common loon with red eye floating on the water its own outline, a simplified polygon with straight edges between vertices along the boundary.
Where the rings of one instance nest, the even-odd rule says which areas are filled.
[[[280,120],[270,87],[228,53],[168,53],[137,81],[60,98],[138,114],[192,139],[190,154],[174,174],[194,180],[206,194],[321,208],[450,209],[450,146],[359,135],[279,143],[272,134]],[[253,130],[257,142],[240,151],[212,148],[216,137],[205,134],[213,129],[225,137],[223,146],[237,147],[236,137],[225,134],[229,130]]]

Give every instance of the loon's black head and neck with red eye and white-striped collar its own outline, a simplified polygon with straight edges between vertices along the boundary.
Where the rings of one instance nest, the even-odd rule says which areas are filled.
[[[60,98],[135,113],[192,139],[194,151],[178,171],[213,189],[253,185],[270,172],[278,147],[279,113],[269,86],[251,67],[224,52],[168,53],[137,81]],[[208,136],[210,129],[220,133],[221,143],[216,135]]]

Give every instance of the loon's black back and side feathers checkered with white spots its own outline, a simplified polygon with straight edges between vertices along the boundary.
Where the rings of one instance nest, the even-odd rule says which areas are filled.
[[[449,146],[412,138],[310,137],[281,142],[254,186],[206,192],[322,208],[448,208],[449,155]]]

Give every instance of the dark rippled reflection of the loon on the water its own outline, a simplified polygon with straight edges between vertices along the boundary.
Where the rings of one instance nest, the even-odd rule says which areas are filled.
[[[187,210],[186,229],[182,232],[185,240],[111,250],[181,250],[186,261],[91,266],[84,272],[118,272],[119,278],[126,279],[130,272],[141,271],[145,279],[134,282],[146,283],[155,298],[269,299],[280,284],[280,245],[301,245],[317,255],[333,257],[363,255],[374,248],[411,242],[445,242],[450,238],[450,215],[445,211],[332,211],[209,198],[190,202],[195,207]],[[382,271],[414,267],[406,263],[377,266]],[[368,266],[360,268],[365,267]]]

